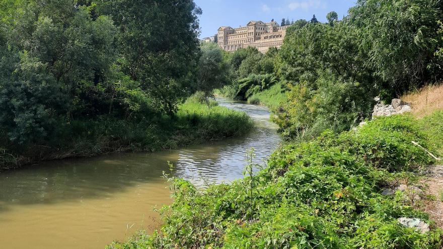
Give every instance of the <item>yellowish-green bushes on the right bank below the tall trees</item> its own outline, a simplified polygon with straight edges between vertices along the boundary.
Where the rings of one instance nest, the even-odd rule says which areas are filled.
[[[285,136],[315,137],[325,129],[341,132],[368,116],[374,103],[371,89],[333,75],[327,70],[313,83],[291,87],[285,112],[277,119]]]

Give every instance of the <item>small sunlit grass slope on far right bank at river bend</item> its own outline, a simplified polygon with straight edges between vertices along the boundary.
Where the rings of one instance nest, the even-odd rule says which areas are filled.
[[[263,92],[254,94],[248,99],[248,103],[264,105],[272,111],[277,111],[281,107],[281,103],[285,102],[287,102],[287,97],[281,84],[276,84]]]

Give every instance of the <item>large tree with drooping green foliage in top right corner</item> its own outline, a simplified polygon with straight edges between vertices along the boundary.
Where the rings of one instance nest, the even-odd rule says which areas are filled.
[[[442,18],[437,0],[358,1],[349,15],[359,50],[370,56],[367,66],[400,94],[441,77],[443,61],[434,52],[443,44],[437,34]]]

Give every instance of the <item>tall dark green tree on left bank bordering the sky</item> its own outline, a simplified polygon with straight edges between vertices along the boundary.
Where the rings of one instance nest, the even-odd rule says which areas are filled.
[[[118,27],[125,72],[173,114],[196,90],[201,9],[191,0],[102,0],[102,9]]]

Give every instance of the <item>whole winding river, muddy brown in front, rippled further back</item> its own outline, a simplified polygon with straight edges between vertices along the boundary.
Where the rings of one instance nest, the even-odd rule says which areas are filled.
[[[246,112],[255,129],[242,138],[155,153],[43,162],[0,173],[0,248],[104,248],[161,224],[154,208],[171,204],[168,171],[197,186],[243,177],[246,152],[262,162],[280,137],[266,108],[218,99]]]

